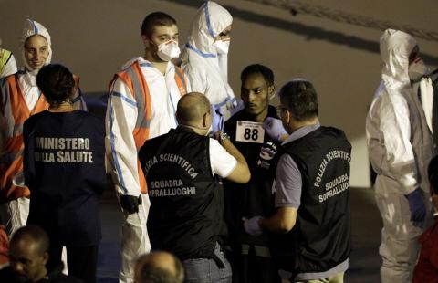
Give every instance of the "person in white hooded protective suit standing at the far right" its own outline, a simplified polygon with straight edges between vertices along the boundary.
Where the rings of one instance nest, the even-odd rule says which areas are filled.
[[[434,153],[433,87],[429,78],[422,78],[426,68],[412,36],[387,29],[381,37],[381,58],[381,86],[366,121],[383,220],[381,282],[411,282],[418,237],[433,220],[427,179]]]

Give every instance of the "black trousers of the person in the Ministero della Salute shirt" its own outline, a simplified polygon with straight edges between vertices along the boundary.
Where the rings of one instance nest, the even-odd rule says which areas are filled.
[[[96,283],[99,246],[66,246],[68,276],[85,283]],[[52,245],[48,249],[47,268],[51,270],[61,261],[62,246]]]

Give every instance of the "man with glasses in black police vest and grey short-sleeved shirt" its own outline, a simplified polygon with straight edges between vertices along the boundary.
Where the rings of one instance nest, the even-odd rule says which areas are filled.
[[[343,282],[349,267],[349,162],[343,131],[318,121],[318,99],[305,79],[279,91],[289,133],[276,169],[276,213],[245,220],[253,236],[271,233],[279,275],[291,282]]]

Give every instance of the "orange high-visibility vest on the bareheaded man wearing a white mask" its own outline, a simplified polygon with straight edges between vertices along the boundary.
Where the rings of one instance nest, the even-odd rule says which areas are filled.
[[[135,123],[134,131],[132,131],[132,135],[134,136],[137,152],[139,152],[143,143],[149,139],[149,125],[151,123],[151,93],[149,92],[148,84],[143,77],[138,61],[132,63],[129,68],[114,75],[114,79],[111,80],[110,86],[116,79],[121,79],[121,81],[123,81],[123,83],[130,89],[132,98],[137,103],[137,121]],[[180,90],[181,96],[183,96],[187,93],[185,76],[183,70],[177,66],[175,66],[174,79]],[[137,170],[139,172],[141,193],[146,194],[148,193],[146,180],[144,178],[143,170],[141,169],[141,163],[138,159]]]

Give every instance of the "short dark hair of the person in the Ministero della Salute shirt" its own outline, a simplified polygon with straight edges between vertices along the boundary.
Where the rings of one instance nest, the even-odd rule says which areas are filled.
[[[48,103],[57,106],[73,94],[75,79],[68,68],[60,64],[49,64],[39,70],[36,85]]]

